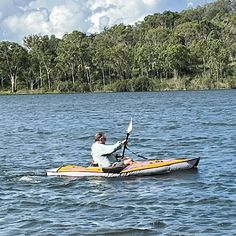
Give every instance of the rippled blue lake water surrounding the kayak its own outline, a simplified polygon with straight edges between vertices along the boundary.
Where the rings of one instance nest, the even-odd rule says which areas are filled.
[[[94,134],[123,140],[131,117],[131,151],[199,168],[45,175],[88,165]],[[236,90],[0,96],[0,235],[236,235],[235,168]]]

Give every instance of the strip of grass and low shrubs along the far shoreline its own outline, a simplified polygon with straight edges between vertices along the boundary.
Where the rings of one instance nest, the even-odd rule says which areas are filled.
[[[77,85],[55,86],[52,90],[45,89],[19,89],[14,94],[58,94],[58,93],[84,93],[84,92],[143,92],[143,91],[173,91],[173,90],[210,90],[210,89],[235,89],[236,78],[229,77],[221,80],[210,78],[134,78],[119,80],[108,85],[92,84],[91,86]],[[11,90],[0,90],[1,95],[13,94]]]

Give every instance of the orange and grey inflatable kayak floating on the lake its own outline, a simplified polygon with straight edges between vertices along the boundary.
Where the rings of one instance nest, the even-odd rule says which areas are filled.
[[[66,165],[47,170],[48,176],[72,176],[72,177],[128,177],[150,176],[169,172],[196,168],[200,161],[197,158],[178,158],[169,160],[135,161],[124,167],[96,167]]]

